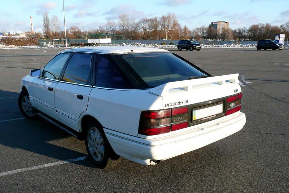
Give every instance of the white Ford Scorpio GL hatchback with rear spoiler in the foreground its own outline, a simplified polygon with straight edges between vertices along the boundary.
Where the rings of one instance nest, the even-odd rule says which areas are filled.
[[[167,50],[65,50],[21,80],[19,108],[84,139],[98,168],[141,164],[206,146],[243,128],[238,74],[212,77]]]

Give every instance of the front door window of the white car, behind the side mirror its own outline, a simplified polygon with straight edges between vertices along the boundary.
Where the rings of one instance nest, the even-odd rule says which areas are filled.
[[[55,56],[48,64],[44,67],[42,77],[47,79],[59,80],[61,70],[67,61],[70,53],[59,54]]]

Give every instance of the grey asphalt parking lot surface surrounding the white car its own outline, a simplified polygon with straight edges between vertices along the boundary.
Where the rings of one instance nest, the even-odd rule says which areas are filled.
[[[213,76],[239,73],[244,128],[155,166],[100,170],[84,141],[18,109],[21,78],[62,50],[0,49],[0,192],[289,192],[289,50],[168,50]]]

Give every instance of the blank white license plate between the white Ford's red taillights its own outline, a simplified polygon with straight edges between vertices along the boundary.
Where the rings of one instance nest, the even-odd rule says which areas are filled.
[[[222,113],[223,112],[223,103],[210,106],[210,107],[205,107],[202,109],[196,109],[192,110],[193,112],[193,120],[198,120],[198,119],[206,119],[210,118],[216,114]]]

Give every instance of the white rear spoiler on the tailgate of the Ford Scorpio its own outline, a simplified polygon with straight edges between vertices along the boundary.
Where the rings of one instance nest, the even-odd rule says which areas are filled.
[[[148,92],[151,92],[158,96],[166,96],[169,94],[169,90],[173,88],[183,88],[186,91],[191,91],[193,86],[201,85],[201,84],[208,84],[208,83],[217,83],[219,85],[224,85],[225,82],[230,83],[239,83],[238,80],[239,74],[228,74],[223,76],[212,76],[207,78],[201,79],[191,79],[191,80],[182,80],[177,82],[169,82],[157,86],[155,88],[151,88]]]

